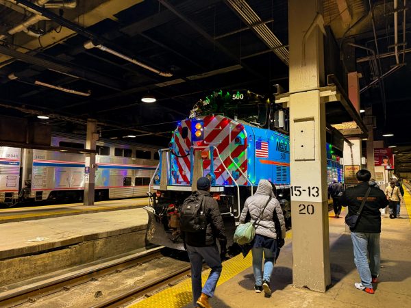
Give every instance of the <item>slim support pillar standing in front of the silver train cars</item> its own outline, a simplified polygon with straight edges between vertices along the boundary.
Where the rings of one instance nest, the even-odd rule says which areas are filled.
[[[99,139],[97,133],[97,120],[87,119],[86,149],[95,150]],[[94,205],[95,201],[95,177],[96,177],[96,154],[86,155],[86,168],[84,170],[84,205]]]

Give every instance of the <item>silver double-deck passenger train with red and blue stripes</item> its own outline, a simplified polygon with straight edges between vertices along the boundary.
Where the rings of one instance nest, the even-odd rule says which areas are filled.
[[[77,148],[84,136],[53,133],[51,146]],[[96,200],[146,196],[158,165],[158,146],[97,141]],[[0,203],[25,200],[82,201],[84,154],[0,147]]]

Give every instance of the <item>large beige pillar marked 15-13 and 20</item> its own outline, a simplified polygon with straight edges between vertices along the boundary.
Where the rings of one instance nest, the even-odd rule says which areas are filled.
[[[325,292],[331,283],[321,1],[288,1],[292,283]],[[310,31],[308,31],[310,29]],[[297,93],[296,93],[297,92]]]

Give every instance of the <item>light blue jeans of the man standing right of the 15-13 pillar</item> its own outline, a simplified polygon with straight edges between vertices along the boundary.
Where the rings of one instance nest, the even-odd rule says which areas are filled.
[[[380,233],[351,232],[354,263],[364,287],[373,287],[371,278],[379,275],[379,235]]]

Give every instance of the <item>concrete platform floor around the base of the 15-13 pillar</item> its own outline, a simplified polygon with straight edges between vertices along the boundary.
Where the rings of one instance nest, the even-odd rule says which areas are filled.
[[[382,217],[381,273],[375,294],[354,287],[360,277],[353,263],[353,248],[344,216],[329,213],[330,263],[332,287],[325,293],[292,286],[292,242],[286,240],[275,264],[271,298],[253,291],[252,268],[241,272],[216,288],[212,307],[411,307],[411,196],[408,211],[401,207],[401,218]],[[190,305],[186,307],[191,307]]]

